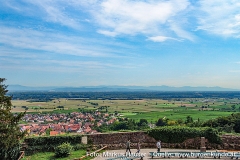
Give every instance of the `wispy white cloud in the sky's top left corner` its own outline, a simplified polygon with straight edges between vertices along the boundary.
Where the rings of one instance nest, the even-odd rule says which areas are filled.
[[[4,5],[29,17],[40,18],[47,22],[58,23],[74,29],[79,29],[81,27],[78,20],[73,18],[71,12],[65,10],[68,6],[68,3],[65,1],[23,0],[8,1],[5,2]]]

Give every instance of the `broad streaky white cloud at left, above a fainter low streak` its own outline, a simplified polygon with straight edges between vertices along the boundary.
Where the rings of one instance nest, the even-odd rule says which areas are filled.
[[[88,46],[81,37],[0,26],[0,43],[19,49],[87,57],[114,57],[109,51]]]

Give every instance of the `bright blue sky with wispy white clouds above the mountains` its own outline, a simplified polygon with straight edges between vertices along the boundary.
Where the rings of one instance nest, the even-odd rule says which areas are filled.
[[[240,89],[239,0],[0,1],[8,85]]]

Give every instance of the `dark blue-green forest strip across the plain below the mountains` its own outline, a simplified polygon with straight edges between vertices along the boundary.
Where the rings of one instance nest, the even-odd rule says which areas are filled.
[[[11,92],[13,99],[33,101],[50,101],[57,98],[86,98],[96,99],[181,99],[181,98],[240,98],[239,92],[161,92],[161,91],[139,91],[139,92]]]

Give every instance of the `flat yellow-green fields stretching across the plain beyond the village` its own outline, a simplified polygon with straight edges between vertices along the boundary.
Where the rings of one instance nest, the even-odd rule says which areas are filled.
[[[12,104],[13,112],[26,110],[28,113],[71,113],[82,110],[98,110],[108,113],[117,112],[122,117],[128,117],[136,121],[147,119],[149,122],[155,122],[159,118],[185,120],[187,116],[191,116],[193,120],[205,121],[240,111],[240,100],[238,98],[182,98],[168,100],[83,100],[60,98],[48,102],[12,100]]]

